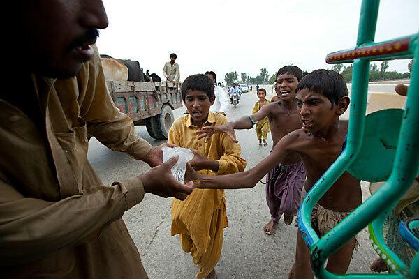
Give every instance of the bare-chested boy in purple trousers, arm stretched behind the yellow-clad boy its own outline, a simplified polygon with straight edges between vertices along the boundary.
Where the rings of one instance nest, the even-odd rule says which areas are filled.
[[[264,105],[251,116],[244,116],[236,121],[222,126],[207,126],[197,133],[198,138],[209,137],[213,133],[224,132],[235,138],[234,129],[250,129],[266,116],[272,131],[275,144],[282,137],[301,128],[300,117],[295,103],[295,89],[302,79],[302,71],[296,66],[285,66],[277,72],[276,92],[279,101]],[[304,166],[297,153],[288,153],[278,165],[267,174],[266,201],[271,214],[271,220],[263,227],[266,234],[272,234],[279,218],[284,215],[284,222],[291,224],[298,211],[301,200],[301,190],[305,179]]]

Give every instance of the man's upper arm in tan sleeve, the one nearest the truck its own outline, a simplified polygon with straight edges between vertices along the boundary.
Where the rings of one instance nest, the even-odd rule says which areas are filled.
[[[96,47],[95,47],[96,49]],[[161,146],[153,147],[135,133],[133,121],[117,110],[106,87],[105,75],[98,50],[95,57],[84,65],[73,80],[74,84],[58,81],[57,90],[71,90],[78,87],[80,116],[87,122],[87,134],[114,151],[125,152],[151,167],[161,164]],[[74,89],[72,89],[74,90]]]

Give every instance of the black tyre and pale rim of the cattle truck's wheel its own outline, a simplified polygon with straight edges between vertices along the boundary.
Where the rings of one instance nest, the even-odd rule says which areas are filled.
[[[172,108],[169,105],[163,105],[159,115],[147,119],[147,132],[156,140],[167,139],[173,121],[175,121],[175,116],[173,116]]]

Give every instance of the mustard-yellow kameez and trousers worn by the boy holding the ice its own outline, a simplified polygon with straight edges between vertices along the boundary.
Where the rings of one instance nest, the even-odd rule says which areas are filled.
[[[226,116],[210,112],[203,126],[222,125]],[[219,171],[202,170],[207,175],[232,174],[242,172],[246,160],[240,157],[240,145],[225,133],[216,133],[205,139],[196,139],[198,127],[191,123],[191,116],[179,117],[169,131],[168,142],[177,146],[192,148],[204,156],[219,161]],[[171,234],[179,234],[180,244],[185,252],[190,252],[193,263],[199,268],[197,279],[205,278],[221,257],[223,231],[227,227],[226,197],[224,190],[194,189],[184,201],[173,199]]]

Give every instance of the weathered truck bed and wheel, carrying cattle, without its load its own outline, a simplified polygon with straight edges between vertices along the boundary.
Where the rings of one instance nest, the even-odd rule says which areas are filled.
[[[117,108],[145,125],[154,139],[167,139],[175,120],[172,110],[182,107],[180,84],[172,82],[107,81],[108,90]]]

